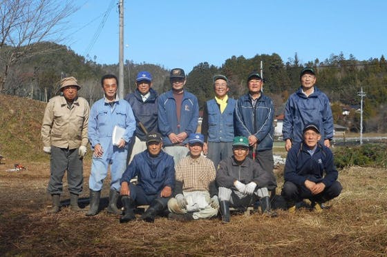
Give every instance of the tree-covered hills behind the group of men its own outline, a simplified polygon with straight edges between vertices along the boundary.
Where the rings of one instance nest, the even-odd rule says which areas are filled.
[[[100,77],[106,73],[118,74],[118,65],[102,65],[93,59],[79,56],[64,45],[40,43],[37,53],[19,60],[8,74],[6,94],[26,96],[46,101],[57,92],[61,76],[75,76],[82,85],[79,91],[92,104],[102,96]],[[0,54],[3,54],[0,49]],[[247,59],[244,56],[232,56],[221,67],[205,62],[198,63],[188,74],[185,88],[196,94],[200,108],[205,101],[213,97],[212,76],[225,74],[229,79],[229,96],[238,99],[247,92],[247,74],[260,68],[263,63],[265,79],[264,93],[272,97],[276,115],[283,113],[288,96],[299,88],[299,72],[303,67],[317,70],[317,87],[325,92],[332,103],[334,122],[345,125],[352,131],[358,131],[360,125],[359,91],[363,88],[364,131],[386,132],[387,126],[387,61],[384,56],[368,60],[357,60],[350,55],[346,59],[342,53],[332,54],[324,61],[316,59],[301,63],[295,54],[294,59],[286,62],[278,54],[257,54]],[[130,63],[129,67],[128,64]],[[160,60],[162,63],[162,60]],[[3,63],[0,63],[0,68]],[[125,61],[125,92],[135,88],[135,75],[140,70],[148,70],[153,75],[153,88],[158,93],[171,88],[169,71],[160,65],[133,63]],[[130,76],[128,75],[130,72]],[[343,115],[343,111],[348,115]]]

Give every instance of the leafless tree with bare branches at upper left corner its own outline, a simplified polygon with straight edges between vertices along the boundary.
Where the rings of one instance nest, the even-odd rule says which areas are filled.
[[[0,0],[0,93],[11,66],[36,54],[37,43],[62,41],[66,18],[75,10],[66,0]]]

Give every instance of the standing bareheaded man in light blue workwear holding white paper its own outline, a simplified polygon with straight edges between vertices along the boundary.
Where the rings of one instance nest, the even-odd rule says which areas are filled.
[[[102,76],[104,98],[91,107],[88,123],[88,139],[93,150],[93,162],[88,182],[90,187],[90,209],[86,216],[98,213],[100,194],[104,179],[111,165],[111,187],[107,211],[121,214],[117,209],[120,195],[120,178],[126,169],[127,148],[135,131],[135,118],[131,105],[117,95],[117,77],[112,74]],[[113,130],[120,127],[123,131],[120,138],[113,143]]]

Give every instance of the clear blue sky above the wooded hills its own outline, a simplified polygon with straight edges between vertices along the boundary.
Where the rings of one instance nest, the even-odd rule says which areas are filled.
[[[97,63],[118,63],[118,0],[75,3],[64,44],[97,56]],[[386,10],[386,0],[124,0],[124,59],[188,73],[233,55],[276,53],[286,62],[297,52],[301,63],[340,52],[347,59],[380,58],[387,55]]]

